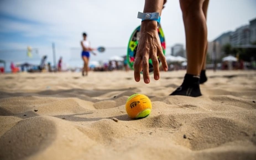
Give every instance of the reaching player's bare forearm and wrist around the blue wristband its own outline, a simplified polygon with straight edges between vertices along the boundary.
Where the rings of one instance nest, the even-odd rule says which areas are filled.
[[[161,15],[164,0],[145,0],[144,13],[158,12]],[[144,20],[141,23],[141,31],[148,31],[149,29],[156,30],[157,22],[152,20]]]

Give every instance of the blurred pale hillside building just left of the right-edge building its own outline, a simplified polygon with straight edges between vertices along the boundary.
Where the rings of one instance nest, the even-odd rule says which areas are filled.
[[[232,46],[241,44],[250,44],[250,28],[249,25],[241,26],[231,34],[230,44]]]

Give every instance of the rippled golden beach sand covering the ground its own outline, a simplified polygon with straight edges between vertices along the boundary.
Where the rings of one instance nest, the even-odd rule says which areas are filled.
[[[203,96],[168,96],[184,74],[1,74],[0,159],[256,159],[256,72],[208,71]],[[148,117],[127,116],[134,93]]]

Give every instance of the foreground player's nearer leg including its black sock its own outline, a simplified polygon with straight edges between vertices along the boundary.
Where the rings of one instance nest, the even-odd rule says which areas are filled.
[[[198,97],[199,81],[207,46],[207,26],[203,13],[205,0],[180,0],[186,33],[187,74],[180,87],[170,95]]]

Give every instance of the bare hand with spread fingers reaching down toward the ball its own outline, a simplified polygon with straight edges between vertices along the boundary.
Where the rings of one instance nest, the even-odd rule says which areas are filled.
[[[140,81],[140,72],[143,70],[143,79],[145,83],[150,82],[148,71],[148,59],[151,58],[154,69],[154,79],[160,78],[158,58],[162,62],[164,71],[168,70],[168,66],[163,54],[159,35],[157,32],[156,21],[143,21],[140,29],[140,39],[137,53],[134,61],[134,79]]]

